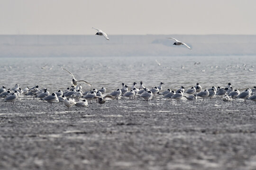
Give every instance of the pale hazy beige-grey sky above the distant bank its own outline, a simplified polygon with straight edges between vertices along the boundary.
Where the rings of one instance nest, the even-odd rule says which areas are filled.
[[[256,0],[0,0],[0,34],[256,34]]]

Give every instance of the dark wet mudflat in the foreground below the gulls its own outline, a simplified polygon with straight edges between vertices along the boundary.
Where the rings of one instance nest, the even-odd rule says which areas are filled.
[[[0,101],[0,169],[254,170],[256,102]]]

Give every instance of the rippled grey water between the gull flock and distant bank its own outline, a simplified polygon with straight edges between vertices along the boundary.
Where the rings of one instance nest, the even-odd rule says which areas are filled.
[[[121,88],[122,82],[132,85],[134,81],[143,81],[146,87],[164,82],[164,89],[189,88],[197,82],[208,88],[231,82],[241,90],[256,85],[255,64],[255,56],[1,58],[0,84],[65,89],[72,81],[62,69],[66,68],[76,79],[88,81],[95,88],[104,86],[109,92]]]

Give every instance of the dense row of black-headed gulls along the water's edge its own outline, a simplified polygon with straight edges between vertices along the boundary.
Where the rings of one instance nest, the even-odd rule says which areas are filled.
[[[69,74],[73,76],[71,72],[63,68]],[[41,88],[36,85],[32,88],[21,89],[18,84],[14,88],[7,89],[5,86],[0,88],[0,97],[4,98],[4,102],[10,102],[14,104],[16,100],[20,98],[21,95],[32,96],[34,99],[40,99],[43,102],[64,102],[64,105],[68,108],[71,106],[86,107],[88,106],[88,101],[95,100],[96,102],[103,104],[107,99],[109,100],[119,100],[123,98],[128,98],[129,100],[143,98],[145,101],[151,99],[166,99],[172,101],[173,99],[180,102],[180,99],[185,97],[189,101],[195,101],[199,98],[203,100],[220,97],[223,101],[235,101],[236,99],[252,100],[256,102],[256,86],[252,89],[245,89],[242,92],[239,92],[238,89],[234,89],[229,83],[225,87],[215,87],[212,86],[210,89],[203,90],[201,85],[197,83],[195,86],[185,90],[183,86],[180,89],[174,91],[171,89],[163,90],[163,82],[160,82],[158,86],[152,86],[151,88],[146,88],[143,85],[143,82],[140,82],[140,85],[137,85],[136,82],[132,86],[125,85],[122,83],[122,88],[118,88],[111,93],[106,93],[106,88],[102,87],[100,90],[91,89],[89,91],[83,92],[82,85],[79,82],[84,82],[86,85],[92,87],[92,85],[84,80],[76,80],[73,76],[72,85],[67,87],[66,90],[58,90],[57,92],[50,93],[47,88]]]

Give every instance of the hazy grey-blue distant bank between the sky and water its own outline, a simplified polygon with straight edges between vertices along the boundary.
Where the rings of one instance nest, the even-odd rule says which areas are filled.
[[[175,37],[186,42],[174,46]],[[0,35],[0,57],[256,55],[256,35]]]

